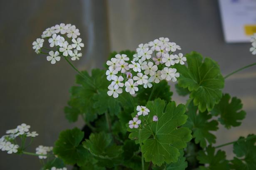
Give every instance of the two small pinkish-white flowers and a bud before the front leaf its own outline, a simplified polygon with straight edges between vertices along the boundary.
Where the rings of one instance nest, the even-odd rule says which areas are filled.
[[[129,121],[129,128],[139,128],[139,125],[142,123],[141,120],[139,120],[139,116],[147,116],[150,112],[150,110],[146,106],[137,106],[136,110],[138,111],[136,116],[132,118],[132,120]],[[156,115],[153,116],[152,121],[158,121],[158,117]]]

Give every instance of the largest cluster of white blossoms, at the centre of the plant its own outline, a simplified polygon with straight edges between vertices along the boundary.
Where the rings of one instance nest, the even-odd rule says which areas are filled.
[[[112,81],[107,94],[116,98],[123,92],[122,87],[125,87],[126,92],[134,95],[139,90],[139,85],[151,88],[152,83],[159,83],[161,80],[175,82],[179,73],[171,66],[183,65],[186,61],[182,53],[173,54],[180,49],[176,43],[161,37],[147,44],[139,44],[132,61],[125,54],[115,55],[111,61],[107,61],[107,80]]]

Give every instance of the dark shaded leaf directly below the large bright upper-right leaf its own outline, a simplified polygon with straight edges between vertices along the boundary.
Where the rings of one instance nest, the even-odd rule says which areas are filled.
[[[202,148],[206,147],[206,140],[208,143],[215,143],[216,136],[209,131],[216,131],[218,129],[218,121],[211,120],[211,114],[207,112],[198,112],[197,107],[191,102],[188,107],[187,115],[188,121],[184,125],[193,131],[193,138],[195,143],[200,142]]]

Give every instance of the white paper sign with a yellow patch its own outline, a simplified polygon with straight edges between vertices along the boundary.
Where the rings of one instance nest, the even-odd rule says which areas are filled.
[[[219,0],[227,43],[249,42],[256,33],[256,0]]]

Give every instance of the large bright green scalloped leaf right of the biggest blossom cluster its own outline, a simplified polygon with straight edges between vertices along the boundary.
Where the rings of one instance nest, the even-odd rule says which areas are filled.
[[[180,64],[174,66],[180,73],[179,86],[188,87],[190,98],[194,99],[201,112],[206,109],[210,111],[220,101],[224,87],[219,65],[210,58],[205,58],[203,62],[201,54],[196,52],[186,54],[186,58],[188,67]]]

